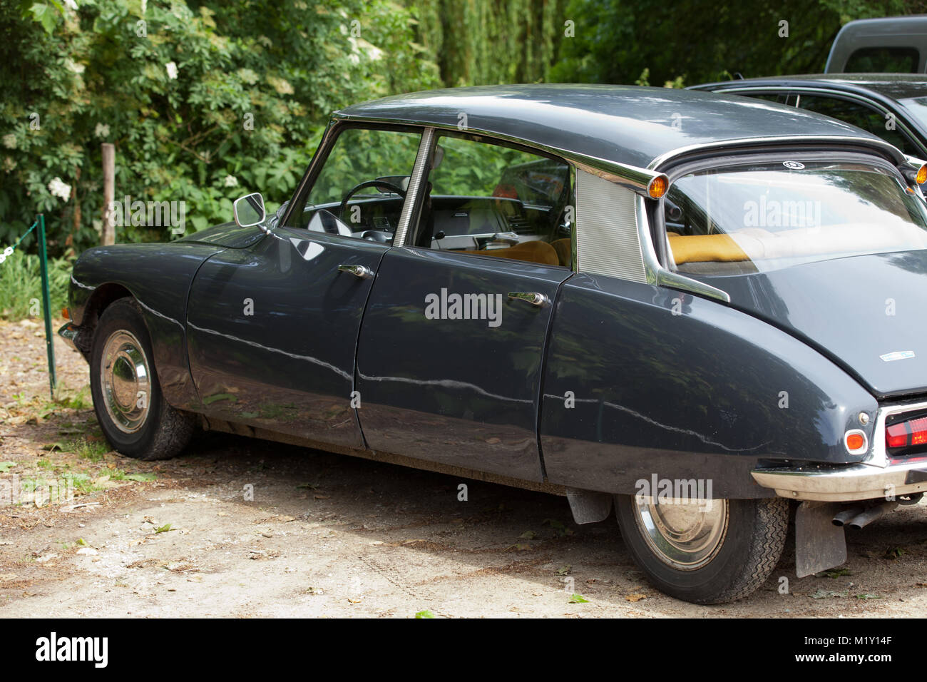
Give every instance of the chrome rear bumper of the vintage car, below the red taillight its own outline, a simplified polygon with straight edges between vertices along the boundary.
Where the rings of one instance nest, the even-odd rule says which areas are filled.
[[[909,476],[909,474],[921,474]],[[841,469],[757,469],[750,472],[756,483],[789,499],[849,502],[927,491],[927,461],[903,462],[880,470],[866,464]],[[922,479],[908,482],[909,478]]]

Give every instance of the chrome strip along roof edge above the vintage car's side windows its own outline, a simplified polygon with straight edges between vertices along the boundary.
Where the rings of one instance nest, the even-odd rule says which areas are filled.
[[[562,157],[566,161],[570,161],[571,163],[575,164],[580,170],[586,171],[586,173],[598,175],[599,177],[608,180],[609,182],[613,182],[616,185],[629,187],[629,189],[633,189],[635,192],[643,196],[649,196],[647,194],[647,190],[654,178],[663,175],[662,173],[657,173],[646,168],[639,168],[637,166],[631,166],[626,163],[618,163],[617,161],[608,161],[599,157],[578,154],[577,152],[570,151],[568,149],[550,147],[548,145],[540,144],[539,142],[526,140],[522,137],[516,137],[514,135],[502,135],[501,133],[493,133],[492,131],[482,130],[480,128],[468,127],[464,131],[461,131],[456,125],[451,124],[442,125],[440,123],[413,121],[411,119],[388,119],[376,116],[346,116],[345,114],[337,111],[332,114],[332,117],[333,120],[337,119],[338,121],[345,122],[393,123],[394,125],[427,125],[432,129],[437,130],[449,130],[457,133],[463,132],[469,135],[482,135],[493,139],[502,140],[504,142],[513,142],[523,147],[535,148],[543,151],[544,153]],[[664,177],[666,176],[664,175]]]

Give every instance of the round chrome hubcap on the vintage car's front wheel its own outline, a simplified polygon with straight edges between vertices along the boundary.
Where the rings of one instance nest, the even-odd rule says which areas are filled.
[[[142,344],[125,329],[114,331],[103,346],[100,386],[107,414],[120,431],[142,428],[151,400],[151,373]]]

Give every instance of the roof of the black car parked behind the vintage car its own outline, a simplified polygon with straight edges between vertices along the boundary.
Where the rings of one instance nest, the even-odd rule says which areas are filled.
[[[693,89],[716,90],[738,87],[756,87],[757,85],[776,86],[816,86],[832,90],[876,93],[888,99],[898,100],[908,97],[927,96],[927,74],[923,73],[803,73],[792,76],[768,76],[763,78],[743,78],[736,81],[719,81],[692,85]]]

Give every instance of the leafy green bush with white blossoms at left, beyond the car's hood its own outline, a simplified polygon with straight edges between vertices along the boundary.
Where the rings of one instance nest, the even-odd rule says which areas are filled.
[[[47,215],[55,253],[98,242],[102,142],[116,147],[115,199],[184,201],[188,232],[230,220],[232,200],[249,191],[273,210],[332,110],[438,85],[413,26],[385,0],[0,10],[0,245],[35,212]],[[56,178],[70,195],[50,186]],[[116,235],[171,238],[170,225]]]

